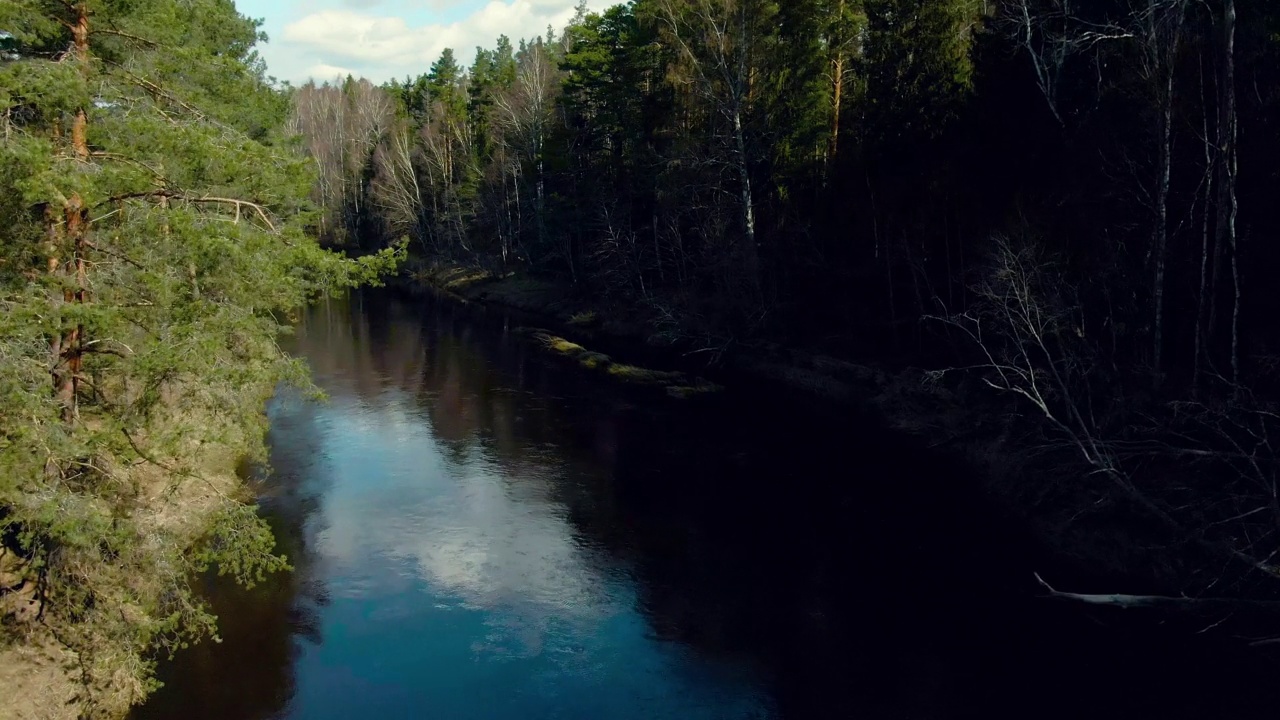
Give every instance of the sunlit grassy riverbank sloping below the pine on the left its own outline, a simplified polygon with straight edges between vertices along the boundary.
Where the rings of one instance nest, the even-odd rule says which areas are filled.
[[[60,548],[58,562],[69,566],[61,573],[81,587],[42,587],[49,584],[44,569],[10,551],[0,553],[0,584],[10,589],[0,596],[0,687],[20,689],[0,701],[0,717],[125,717],[156,688],[157,660],[189,643],[216,641],[215,619],[205,612],[193,583],[218,557],[228,561],[219,570],[237,574],[234,560],[223,555],[230,550],[223,533],[247,537],[255,529],[227,521],[253,500],[238,466],[256,429],[174,410],[177,405],[166,413],[169,428],[201,427],[206,437],[221,439],[189,439],[165,457],[142,460],[142,451],[132,460],[127,454],[97,457],[113,465],[114,506],[105,498],[87,500],[92,507],[68,514],[125,512],[128,524],[118,524],[97,556]],[[134,436],[131,442],[142,448],[148,439]],[[232,553],[261,550],[261,543],[246,542]]]

